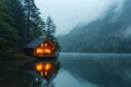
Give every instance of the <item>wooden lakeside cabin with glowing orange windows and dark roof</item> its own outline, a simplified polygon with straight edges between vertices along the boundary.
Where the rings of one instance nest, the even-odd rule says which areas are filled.
[[[31,57],[55,57],[56,45],[48,38],[37,38],[24,47],[25,54]]]

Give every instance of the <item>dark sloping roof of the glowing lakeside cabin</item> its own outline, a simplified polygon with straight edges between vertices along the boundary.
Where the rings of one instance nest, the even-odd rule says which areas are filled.
[[[27,44],[24,48],[36,48],[37,46],[39,46],[45,40],[46,40],[46,38],[44,38],[44,37],[36,38],[35,40],[33,40],[29,44]]]

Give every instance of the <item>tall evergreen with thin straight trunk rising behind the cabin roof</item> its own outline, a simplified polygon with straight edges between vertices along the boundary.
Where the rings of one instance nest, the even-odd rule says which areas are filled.
[[[26,30],[28,39],[33,40],[41,36],[41,29],[45,27],[43,18],[39,16],[39,10],[35,5],[34,0],[23,0],[24,13],[26,15]]]

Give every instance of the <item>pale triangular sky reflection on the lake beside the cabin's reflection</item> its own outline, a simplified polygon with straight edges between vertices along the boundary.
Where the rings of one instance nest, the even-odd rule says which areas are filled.
[[[55,79],[56,87],[97,87],[96,85],[78,79],[78,77],[73,76],[70,72],[66,70],[59,71],[58,76]]]

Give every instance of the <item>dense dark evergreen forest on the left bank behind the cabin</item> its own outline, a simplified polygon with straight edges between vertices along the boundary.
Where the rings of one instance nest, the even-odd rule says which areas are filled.
[[[23,53],[28,41],[44,35],[46,24],[39,14],[34,0],[0,0],[0,59]]]

